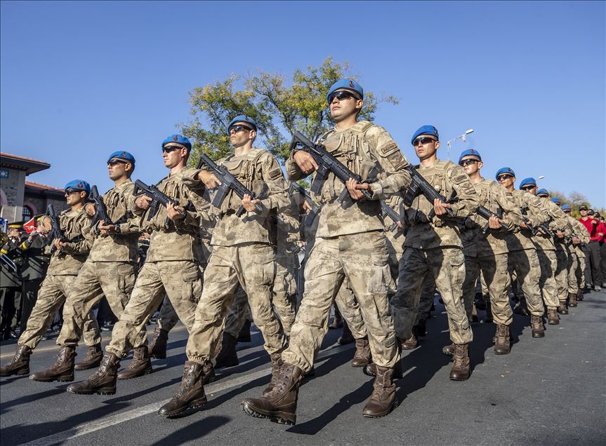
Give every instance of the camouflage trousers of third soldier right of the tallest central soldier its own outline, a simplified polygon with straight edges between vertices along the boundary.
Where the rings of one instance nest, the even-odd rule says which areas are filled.
[[[526,298],[528,310],[532,316],[543,316],[541,299],[541,265],[536,250],[515,250],[509,252],[509,272],[515,278],[518,287]],[[521,296],[521,295],[520,295]]]

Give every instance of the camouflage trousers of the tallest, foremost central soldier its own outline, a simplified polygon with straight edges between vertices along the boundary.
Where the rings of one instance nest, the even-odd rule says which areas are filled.
[[[316,238],[305,266],[305,292],[284,362],[311,370],[328,331],[331,305],[345,281],[360,304],[373,361],[394,367],[400,360],[389,313],[386,236],[383,231]]]

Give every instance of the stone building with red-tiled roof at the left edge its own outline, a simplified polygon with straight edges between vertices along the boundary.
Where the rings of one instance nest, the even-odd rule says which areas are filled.
[[[44,161],[0,152],[0,217],[8,222],[27,221],[44,214],[48,204],[57,212],[67,208],[63,189],[25,179],[50,167]]]

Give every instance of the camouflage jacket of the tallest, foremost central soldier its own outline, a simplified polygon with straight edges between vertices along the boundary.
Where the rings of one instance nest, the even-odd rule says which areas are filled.
[[[324,144],[327,151],[362,180],[367,180],[369,174],[383,174],[384,180],[370,184],[371,200],[362,198],[354,202],[348,194],[341,205],[336,198],[345,189],[345,184],[329,173],[320,193],[312,194],[315,201],[323,204],[316,236],[336,237],[383,230],[385,224],[379,200],[398,194],[410,184],[410,175],[404,170],[409,163],[400,147],[387,130],[369,121],[360,121],[342,131],[330,130],[318,143]],[[291,181],[307,176],[294,161],[295,153],[286,161],[286,173]],[[313,175],[315,177],[317,173]]]

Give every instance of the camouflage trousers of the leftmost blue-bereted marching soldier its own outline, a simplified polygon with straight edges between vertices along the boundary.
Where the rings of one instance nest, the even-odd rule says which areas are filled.
[[[27,345],[30,349],[36,348],[53,322],[57,311],[70,296],[74,281],[76,281],[76,276],[48,275],[44,278],[38,291],[38,299],[34,304],[34,309],[32,309],[32,313],[27,319],[27,330],[22,332],[19,337],[19,345]],[[65,313],[65,308],[67,308],[67,305],[63,311],[65,321],[67,321],[70,315]],[[84,344],[87,346],[100,344],[99,326],[90,312],[84,314],[80,327],[84,332]]]

